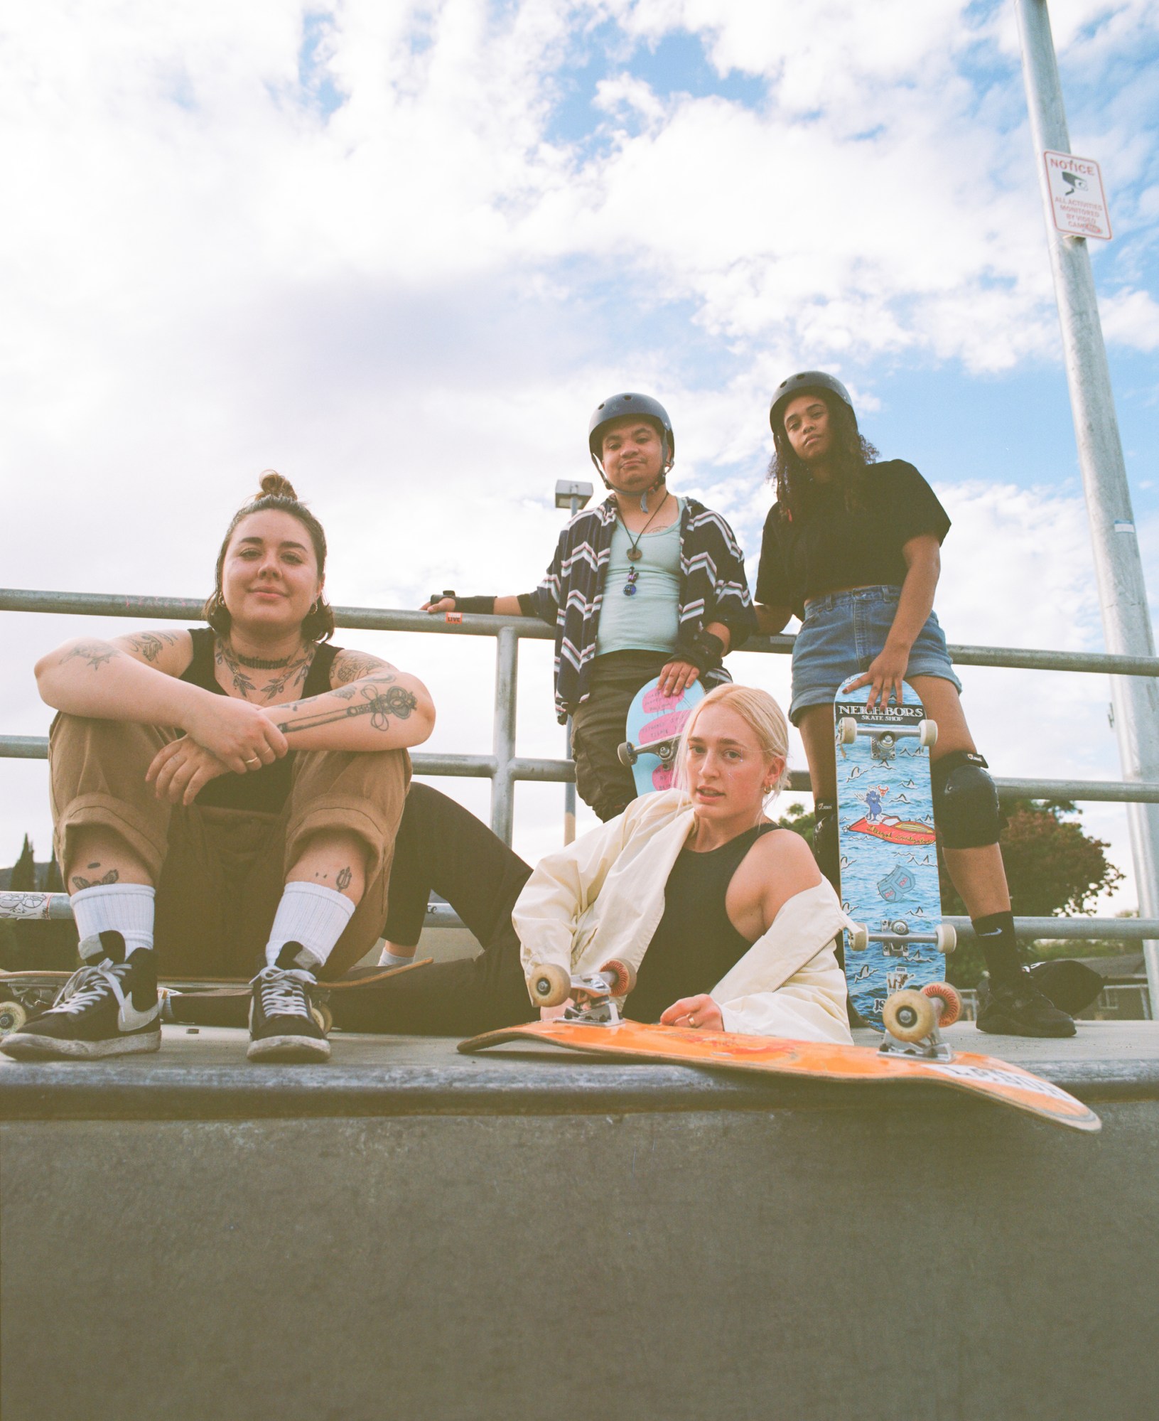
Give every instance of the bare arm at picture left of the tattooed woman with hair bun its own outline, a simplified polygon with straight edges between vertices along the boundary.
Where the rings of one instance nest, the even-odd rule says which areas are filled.
[[[71,715],[176,726],[237,774],[256,769],[256,759],[271,764],[285,755],[285,736],[260,706],[178,679],[190,657],[187,631],[78,637],[40,658],[37,688]]]

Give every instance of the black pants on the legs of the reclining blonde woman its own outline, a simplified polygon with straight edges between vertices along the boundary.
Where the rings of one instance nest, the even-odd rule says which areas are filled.
[[[410,784],[402,813],[383,936],[413,946],[432,890],[483,945],[477,958],[432,962],[361,990],[335,992],[348,1032],[474,1036],[538,1016],[527,995],[511,908],[531,870],[486,824],[429,784]]]

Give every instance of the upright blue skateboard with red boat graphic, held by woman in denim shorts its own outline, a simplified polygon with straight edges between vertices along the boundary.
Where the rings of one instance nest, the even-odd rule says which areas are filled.
[[[874,1026],[895,992],[942,982],[954,946],[953,928],[942,922],[933,833],[929,752],[937,726],[913,686],[902,685],[902,705],[872,710],[872,686],[842,686],[834,698],[841,905],[856,924],[845,934],[845,978]]]

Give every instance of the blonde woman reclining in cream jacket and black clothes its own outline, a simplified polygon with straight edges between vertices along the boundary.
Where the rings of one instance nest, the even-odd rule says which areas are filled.
[[[472,1036],[537,1015],[533,968],[638,969],[633,1020],[851,1040],[837,894],[808,845],[768,821],[788,726],[751,686],[710,691],[689,718],[680,787],[628,809],[531,870],[473,814],[425,784],[406,804],[385,936],[418,942],[430,890],[483,952],[334,999],[351,1030]]]

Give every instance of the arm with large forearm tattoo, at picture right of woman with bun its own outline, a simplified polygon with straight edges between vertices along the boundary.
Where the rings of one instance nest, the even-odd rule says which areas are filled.
[[[293,750],[399,750],[435,729],[426,686],[388,661],[341,651],[330,684],[320,696],[266,708]]]

